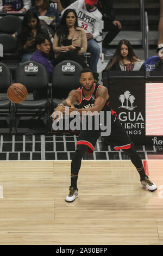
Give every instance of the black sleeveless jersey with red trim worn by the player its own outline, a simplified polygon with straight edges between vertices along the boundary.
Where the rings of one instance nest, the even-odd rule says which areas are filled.
[[[86,97],[84,96],[83,93],[83,87],[82,88],[78,88],[80,90],[80,101],[78,103],[78,108],[89,108],[89,107],[93,107],[94,102],[96,100],[96,93],[99,89],[99,87],[101,87],[102,85],[99,83],[94,83],[93,84],[93,93],[92,95],[89,97],[89,99],[86,99]],[[110,106],[109,106],[109,99],[105,101],[105,105],[102,108],[101,111],[111,111]]]

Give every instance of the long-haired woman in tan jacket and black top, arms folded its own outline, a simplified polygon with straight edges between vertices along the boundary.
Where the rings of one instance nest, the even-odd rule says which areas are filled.
[[[83,68],[87,67],[83,56],[86,48],[86,34],[84,29],[78,26],[76,11],[67,9],[54,36],[55,64],[62,60],[71,59],[80,63]]]

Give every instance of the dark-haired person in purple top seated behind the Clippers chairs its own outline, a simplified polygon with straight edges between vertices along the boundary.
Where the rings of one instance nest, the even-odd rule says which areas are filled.
[[[52,77],[52,71],[54,66],[48,60],[48,54],[51,50],[51,42],[46,35],[37,35],[35,38],[36,51],[33,53],[30,60],[39,62],[45,66],[49,78]]]

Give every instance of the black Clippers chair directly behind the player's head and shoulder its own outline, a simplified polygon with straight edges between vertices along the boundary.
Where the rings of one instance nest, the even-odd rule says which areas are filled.
[[[52,74],[52,107],[64,100],[72,89],[80,87],[79,77],[83,67],[73,60],[64,60],[57,64]]]

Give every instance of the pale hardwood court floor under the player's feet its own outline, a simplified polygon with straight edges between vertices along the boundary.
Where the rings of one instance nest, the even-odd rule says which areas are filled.
[[[163,245],[162,160],[148,161],[155,192],[130,161],[83,161],[66,203],[70,164],[0,162],[0,245]]]

